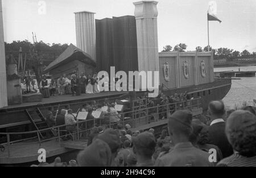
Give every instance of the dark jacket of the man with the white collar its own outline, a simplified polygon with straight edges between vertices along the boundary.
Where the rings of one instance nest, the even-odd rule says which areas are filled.
[[[226,138],[225,122],[218,122],[209,126],[209,144],[214,144],[220,148],[223,158],[233,154],[233,148]]]

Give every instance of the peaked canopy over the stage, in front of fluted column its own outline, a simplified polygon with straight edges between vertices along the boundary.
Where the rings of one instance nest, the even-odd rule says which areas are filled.
[[[93,73],[96,68],[96,62],[88,53],[70,44],[69,47],[61,53],[57,59],[52,61],[44,73],[51,74],[54,78],[60,77],[63,73],[71,74],[74,70],[84,73]]]

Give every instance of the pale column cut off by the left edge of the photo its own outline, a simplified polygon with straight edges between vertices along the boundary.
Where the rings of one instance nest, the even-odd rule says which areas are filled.
[[[0,108],[7,106],[5,40],[3,39],[3,11],[0,0]]]

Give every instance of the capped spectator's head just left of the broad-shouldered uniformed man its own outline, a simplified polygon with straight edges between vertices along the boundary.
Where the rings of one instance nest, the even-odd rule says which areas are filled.
[[[145,131],[137,136],[132,137],[133,150],[137,155],[137,159],[151,160],[155,152],[155,136]]]

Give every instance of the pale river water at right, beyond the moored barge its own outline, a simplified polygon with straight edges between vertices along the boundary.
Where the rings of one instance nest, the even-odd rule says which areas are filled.
[[[221,71],[256,71],[256,66],[250,67],[225,67],[214,68],[214,72]],[[256,77],[240,77],[241,80],[232,80],[232,87],[223,99],[227,109],[234,109],[235,105],[241,106],[243,102],[254,105],[256,100]]]

